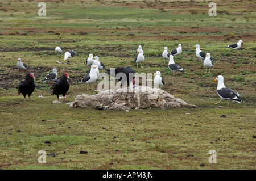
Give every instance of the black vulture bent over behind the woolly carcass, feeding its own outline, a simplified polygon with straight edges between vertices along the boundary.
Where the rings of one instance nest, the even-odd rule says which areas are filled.
[[[130,86],[131,81],[133,81],[133,86],[135,85],[135,70],[132,68],[126,67],[126,68],[116,68],[106,71],[107,74],[110,76],[115,77],[115,79],[119,80],[121,82],[121,85],[123,87],[123,84],[127,82],[127,86]],[[119,74],[118,74],[119,73]]]

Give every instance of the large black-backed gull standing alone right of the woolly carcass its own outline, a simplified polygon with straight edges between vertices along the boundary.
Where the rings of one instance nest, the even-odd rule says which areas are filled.
[[[218,94],[218,96],[220,96],[221,100],[222,99],[231,99],[238,103],[244,102],[239,97],[238,92],[235,92],[224,85],[224,78],[222,75],[218,75],[218,77],[216,79],[214,79],[214,82],[216,82],[216,81],[218,81],[217,94]],[[221,100],[215,104],[220,103]]]

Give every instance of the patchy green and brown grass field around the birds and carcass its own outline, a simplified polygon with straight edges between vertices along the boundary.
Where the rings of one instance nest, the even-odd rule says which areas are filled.
[[[46,16],[38,16],[39,2],[0,1],[0,169],[255,169],[253,1],[215,1],[217,16],[208,15],[207,1],[52,0]],[[241,49],[225,48],[240,39]],[[162,52],[179,43],[183,52],[174,61],[186,73],[174,74]],[[214,58],[210,73],[195,55],[196,44]],[[139,45],[146,59],[137,69]],[[58,64],[64,53],[56,53],[56,46],[77,55]],[[53,68],[59,77],[69,74],[70,102],[97,93],[77,82],[89,69],[89,53],[108,69],[161,71],[162,89],[198,108],[124,112],[72,108],[63,99],[53,104],[56,96],[42,82]],[[26,75],[16,68],[19,57],[35,73],[31,102],[18,95]],[[220,100],[217,75],[245,103],[214,104]],[[46,151],[46,164],[38,163],[39,150]],[[209,150],[216,150],[216,164],[208,163]]]

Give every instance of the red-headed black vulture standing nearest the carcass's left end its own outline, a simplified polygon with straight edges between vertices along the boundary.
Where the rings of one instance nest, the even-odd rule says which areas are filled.
[[[53,92],[52,95],[57,95],[58,100],[60,101],[60,94],[63,95],[64,100],[67,91],[69,90],[69,83],[67,78],[69,78],[68,73],[64,73],[62,77],[56,80],[53,84]]]

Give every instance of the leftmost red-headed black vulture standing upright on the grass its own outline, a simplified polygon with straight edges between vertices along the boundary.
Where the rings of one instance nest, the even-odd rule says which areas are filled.
[[[34,90],[35,90],[35,75],[34,75],[34,73],[30,73],[30,74],[26,75],[26,78],[24,81],[21,81],[19,83],[18,94],[20,94],[20,93],[23,94],[24,102],[25,102],[26,94],[28,94],[28,98],[30,98],[30,96]]]

